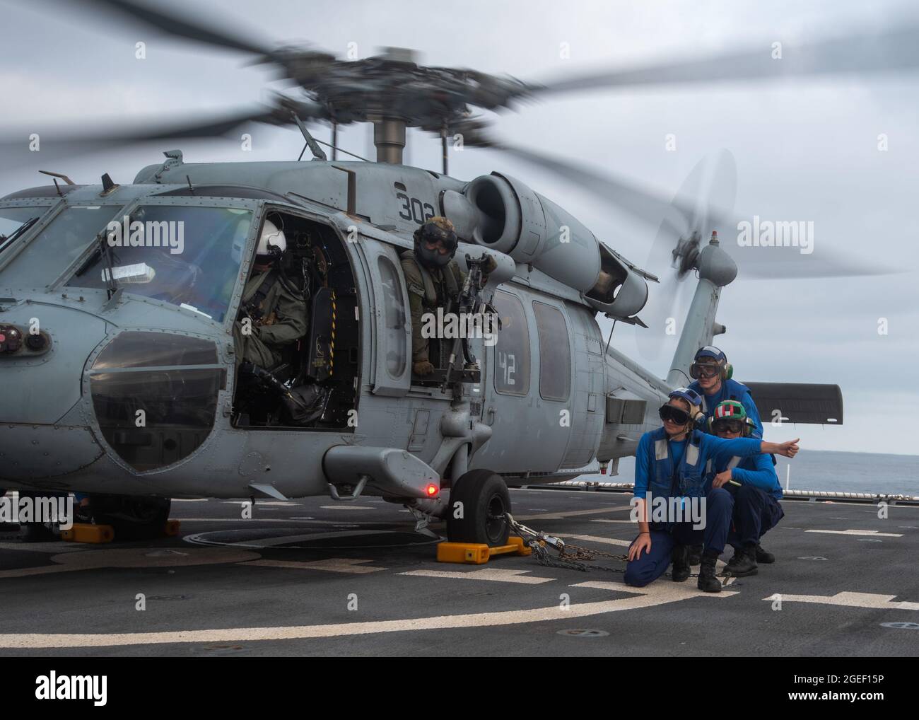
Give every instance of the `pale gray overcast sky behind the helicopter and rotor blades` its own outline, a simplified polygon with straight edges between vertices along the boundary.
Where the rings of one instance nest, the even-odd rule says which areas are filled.
[[[188,114],[251,105],[267,98],[272,75],[245,67],[246,57],[210,51],[108,24],[69,7],[3,0],[0,90],[3,127],[38,130],[62,122],[89,129],[94,119],[178,120]],[[802,43],[916,22],[906,2],[401,2],[357,3],[244,0],[163,3],[192,8],[223,26],[251,30],[270,42],[306,41],[344,56],[357,43],[361,57],[381,46],[412,47],[420,62],[471,67],[525,80],[546,80],[609,64],[701,58],[720,51]],[[145,60],[135,43],[146,43]],[[570,57],[563,58],[562,43]],[[722,295],[716,338],[742,382],[839,383],[845,426],[789,431],[817,450],[919,453],[913,418],[919,357],[917,238],[919,74],[837,77],[782,83],[660,86],[582,93],[532,102],[495,117],[495,132],[517,144],[568,156],[632,177],[672,196],[699,160],[728,149],[736,159],[735,211],[775,221],[813,221],[815,252],[843,249],[882,259],[904,271],[842,280],[749,280],[741,275]],[[673,133],[676,150],[665,147]],[[888,150],[878,149],[887,136]],[[316,135],[328,140],[327,128]],[[410,132],[406,163],[439,170],[439,143]],[[291,160],[301,151],[297,131],[262,128],[253,150],[238,142],[167,141],[48,165],[0,170],[0,195],[40,184],[35,170],[65,172],[98,182],[108,172],[130,182],[160,151],[181,147],[187,162]],[[367,128],[340,133],[343,147],[372,153]],[[609,246],[640,266],[658,232],[637,223],[563,178],[494,151],[454,153],[451,175],[471,179],[492,170],[528,185],[572,211]],[[721,229],[721,236],[736,232]],[[648,268],[664,275],[662,267]],[[682,313],[694,280],[684,283]],[[661,302],[652,285],[652,301]],[[879,318],[889,333],[879,335]],[[605,328],[608,324],[601,323]],[[641,359],[635,333],[618,326],[613,343]],[[656,360],[660,376],[675,341]]]

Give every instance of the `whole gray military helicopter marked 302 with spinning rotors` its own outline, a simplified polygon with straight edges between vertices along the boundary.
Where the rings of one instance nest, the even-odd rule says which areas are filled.
[[[553,483],[591,463],[634,454],[659,425],[657,408],[688,382],[694,351],[724,332],[721,288],[738,266],[755,277],[845,276],[876,271],[860,260],[781,253],[744,255],[713,230],[732,219],[699,212],[630,181],[501,143],[471,108],[525,98],[657,83],[770,79],[912,69],[916,29],[827,41],[777,65],[757,49],[711,60],[609,71],[528,84],[425,67],[411,51],[340,61],[271,49],[241,32],[127,0],[94,5],[147,28],[243,51],[301,86],[303,97],[185,126],[148,124],[78,135],[45,133],[49,148],[82,150],[150,140],[207,138],[251,122],[292,125],[310,162],[186,163],[180,150],[130,183],[52,183],[0,200],[0,486],[87,493],[96,521],[123,534],[158,531],[170,497],[384,497],[412,509],[421,528],[446,518],[448,538],[504,543],[507,484]],[[329,159],[307,125],[332,126]],[[338,125],[369,122],[376,162],[337,158]],[[442,172],[403,165],[406,128],[439,135]],[[670,235],[676,280],[698,275],[666,379],[601,336],[597,316],[644,326],[658,278],[600,241],[583,223],[516,177],[448,175],[448,143],[491,147],[568,177],[644,218],[676,211]],[[23,137],[0,147],[10,165]],[[494,304],[496,342],[438,340],[437,371],[412,374],[408,294],[400,254],[414,230],[446,216],[457,259],[477,276],[472,313]],[[283,227],[282,267],[307,297],[309,330],[277,367],[238,371],[233,323],[268,218]],[[113,247],[108,223],[160,228],[158,246]],[[181,252],[170,234],[184,223]],[[709,238],[710,234],[710,238]],[[168,238],[168,239],[167,239]],[[675,291],[670,287],[668,292]],[[658,331],[652,328],[651,331]],[[764,417],[841,423],[836,385],[749,383]],[[448,512],[442,493],[463,502]]]

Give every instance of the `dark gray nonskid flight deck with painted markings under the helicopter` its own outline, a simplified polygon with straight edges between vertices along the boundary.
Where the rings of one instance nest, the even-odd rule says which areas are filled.
[[[570,543],[624,554],[635,534],[628,495],[511,497],[517,520]],[[720,594],[532,557],[438,564],[436,541],[377,498],[258,501],[252,520],[179,500],[180,536],[152,543],[0,531],[0,655],[913,656],[919,507],[784,508],[763,542],[777,563]]]

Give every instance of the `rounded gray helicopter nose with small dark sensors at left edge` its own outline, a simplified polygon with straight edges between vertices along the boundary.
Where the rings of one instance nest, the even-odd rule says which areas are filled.
[[[51,303],[0,312],[0,478],[71,473],[103,450],[81,410],[86,359],[106,337],[95,315]],[[12,345],[10,338],[19,340]]]

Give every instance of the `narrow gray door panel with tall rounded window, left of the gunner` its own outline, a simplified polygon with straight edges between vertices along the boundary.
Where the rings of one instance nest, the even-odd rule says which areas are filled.
[[[373,292],[370,293],[373,340],[373,393],[408,394],[412,381],[412,335],[408,323],[408,292],[395,250],[378,240],[362,236]]]

